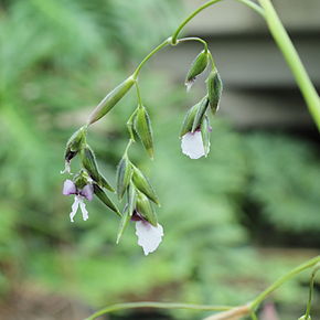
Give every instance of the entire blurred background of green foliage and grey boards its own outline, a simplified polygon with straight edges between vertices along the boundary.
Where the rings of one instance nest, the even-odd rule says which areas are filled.
[[[320,85],[319,1],[274,2]],[[70,223],[65,141],[200,3],[0,1],[0,319],[84,319],[120,301],[243,303],[319,253],[319,134],[264,22],[232,1],[185,30],[210,42],[225,86],[206,159],[183,156],[178,139],[184,113],[204,94],[203,78],[189,94],[183,86],[199,43],[163,50],[140,75],[156,160],[139,146],[130,154],[162,202],[157,253],[142,255],[134,226],[116,245],[119,221],[96,200],[87,222]],[[136,104],[132,90],[89,132],[113,182]],[[303,313],[308,279],[307,271],[270,297],[278,319]],[[316,282],[312,319],[320,318]],[[104,319],[205,314],[136,310]]]

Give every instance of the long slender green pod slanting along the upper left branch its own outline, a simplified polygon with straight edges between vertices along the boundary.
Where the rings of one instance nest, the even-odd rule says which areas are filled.
[[[135,82],[134,77],[130,76],[113,89],[93,110],[88,118],[88,125],[104,117],[128,93]]]

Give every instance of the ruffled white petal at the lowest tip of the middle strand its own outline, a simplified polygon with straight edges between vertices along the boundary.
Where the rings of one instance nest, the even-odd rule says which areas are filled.
[[[142,247],[145,255],[153,253],[160,245],[163,236],[163,227],[158,223],[153,226],[147,221],[136,222],[136,235],[138,245]]]

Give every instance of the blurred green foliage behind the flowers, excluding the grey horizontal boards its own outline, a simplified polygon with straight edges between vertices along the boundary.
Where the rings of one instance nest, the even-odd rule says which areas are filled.
[[[63,146],[94,104],[168,36],[181,15],[178,2],[1,2],[3,299],[34,286],[93,308],[125,299],[241,303],[301,262],[259,253],[252,242],[268,243],[281,233],[289,241],[274,245],[291,238],[313,244],[320,231],[316,147],[284,135],[237,134],[215,119],[209,158],[190,161],[177,137],[191,102],[182,84],[148,67],[141,92],[154,127],[156,160],[151,163],[139,146],[131,157],[161,198],[163,243],[146,258],[130,226],[116,246],[118,220],[98,201],[88,204],[86,223],[70,223],[71,199],[61,196]],[[126,97],[89,135],[111,181],[135,104],[134,94]],[[291,281],[274,298],[285,308],[295,303],[299,312],[306,279]],[[184,311],[172,314],[193,318]]]

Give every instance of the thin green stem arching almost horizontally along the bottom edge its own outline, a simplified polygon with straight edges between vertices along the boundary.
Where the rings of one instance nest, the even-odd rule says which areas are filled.
[[[105,313],[126,310],[126,309],[137,309],[137,308],[157,308],[157,309],[189,309],[189,310],[201,310],[201,311],[224,311],[231,310],[233,307],[230,306],[205,306],[205,305],[188,305],[188,303],[167,303],[167,302],[128,302],[128,303],[117,303],[103,308],[102,310],[95,312],[85,320],[94,320]]]

